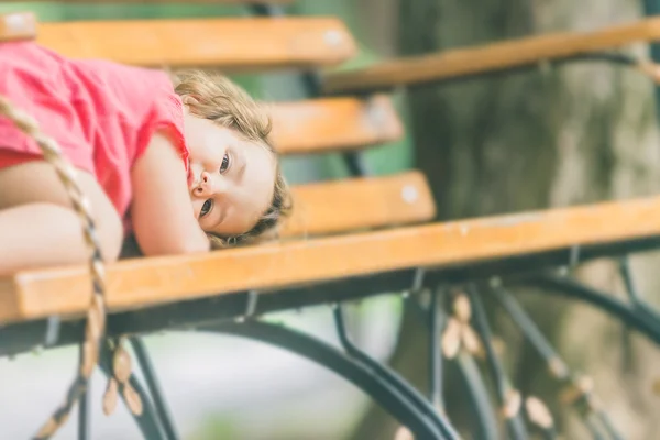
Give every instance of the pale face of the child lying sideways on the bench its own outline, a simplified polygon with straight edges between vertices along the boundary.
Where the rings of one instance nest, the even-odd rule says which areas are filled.
[[[186,143],[190,200],[201,229],[219,235],[251,230],[273,198],[274,154],[231,129],[191,116],[186,118]]]

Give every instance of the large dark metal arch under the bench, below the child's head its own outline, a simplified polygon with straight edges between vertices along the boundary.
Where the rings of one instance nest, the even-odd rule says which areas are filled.
[[[436,420],[420,414],[409,399],[391,383],[382,381],[365,365],[311,336],[283,326],[258,321],[209,324],[198,327],[197,330],[249,338],[286,349],[331,370],[358,386],[402,425],[408,427],[416,438],[458,439],[458,436],[447,437],[441,432],[437,428]],[[439,419],[437,414],[436,417]]]

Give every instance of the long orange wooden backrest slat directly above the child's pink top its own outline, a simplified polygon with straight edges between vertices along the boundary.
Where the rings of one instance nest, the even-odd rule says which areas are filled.
[[[76,58],[234,72],[330,66],[355,54],[350,32],[333,18],[41,23],[37,42]]]

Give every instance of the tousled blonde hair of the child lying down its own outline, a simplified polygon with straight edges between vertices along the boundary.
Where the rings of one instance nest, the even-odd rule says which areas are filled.
[[[277,152],[271,141],[271,118],[245,90],[222,75],[187,70],[170,76],[177,95],[196,99],[197,102],[188,105],[190,113],[235,130],[245,140],[263,145],[277,160],[273,198],[256,224],[238,235],[219,237],[209,233],[211,244],[213,248],[228,248],[254,242],[268,233],[276,234],[279,220],[290,215],[292,198]]]

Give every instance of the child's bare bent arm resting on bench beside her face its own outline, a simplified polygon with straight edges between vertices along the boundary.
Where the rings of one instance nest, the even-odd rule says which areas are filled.
[[[210,249],[209,239],[193,212],[182,158],[165,135],[152,138],[131,177],[133,230],[145,255]]]

